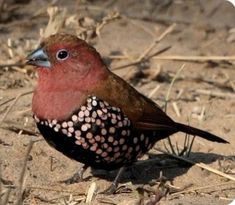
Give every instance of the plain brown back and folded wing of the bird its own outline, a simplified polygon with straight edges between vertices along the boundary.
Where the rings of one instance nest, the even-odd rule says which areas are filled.
[[[177,132],[174,121],[157,104],[113,73],[94,92],[100,99],[121,108],[138,130]]]

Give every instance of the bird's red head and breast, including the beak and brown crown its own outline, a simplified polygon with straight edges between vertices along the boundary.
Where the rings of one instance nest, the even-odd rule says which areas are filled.
[[[74,111],[108,76],[96,50],[68,34],[45,39],[27,59],[39,76],[33,112],[46,119],[59,119]]]

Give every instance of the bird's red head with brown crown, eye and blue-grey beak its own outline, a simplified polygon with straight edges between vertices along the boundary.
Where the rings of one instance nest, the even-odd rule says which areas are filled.
[[[38,86],[45,90],[90,89],[107,76],[98,52],[69,34],[44,39],[27,60],[27,64],[37,67]]]

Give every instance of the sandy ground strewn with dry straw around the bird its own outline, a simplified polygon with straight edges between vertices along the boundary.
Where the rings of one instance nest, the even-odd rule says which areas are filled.
[[[196,138],[188,159],[234,177],[234,19],[235,8],[222,0],[0,1],[2,203],[9,193],[8,204],[20,195],[23,204],[85,204],[93,193],[89,204],[229,204],[235,198],[233,180],[164,155],[157,151],[165,150],[163,142],[144,156],[146,163],[125,172],[114,195],[96,193],[115,173],[89,170],[83,182],[63,183],[81,164],[49,147],[38,133],[27,93],[36,84],[35,70],[22,62],[42,35],[59,30],[94,45],[110,69],[160,106],[176,76],[167,113],[230,142]],[[182,149],[184,135],[171,139]]]

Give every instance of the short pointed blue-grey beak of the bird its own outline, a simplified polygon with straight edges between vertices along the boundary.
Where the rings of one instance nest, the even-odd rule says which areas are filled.
[[[38,67],[51,67],[47,53],[42,49],[38,48],[27,56],[28,65],[34,65]]]

